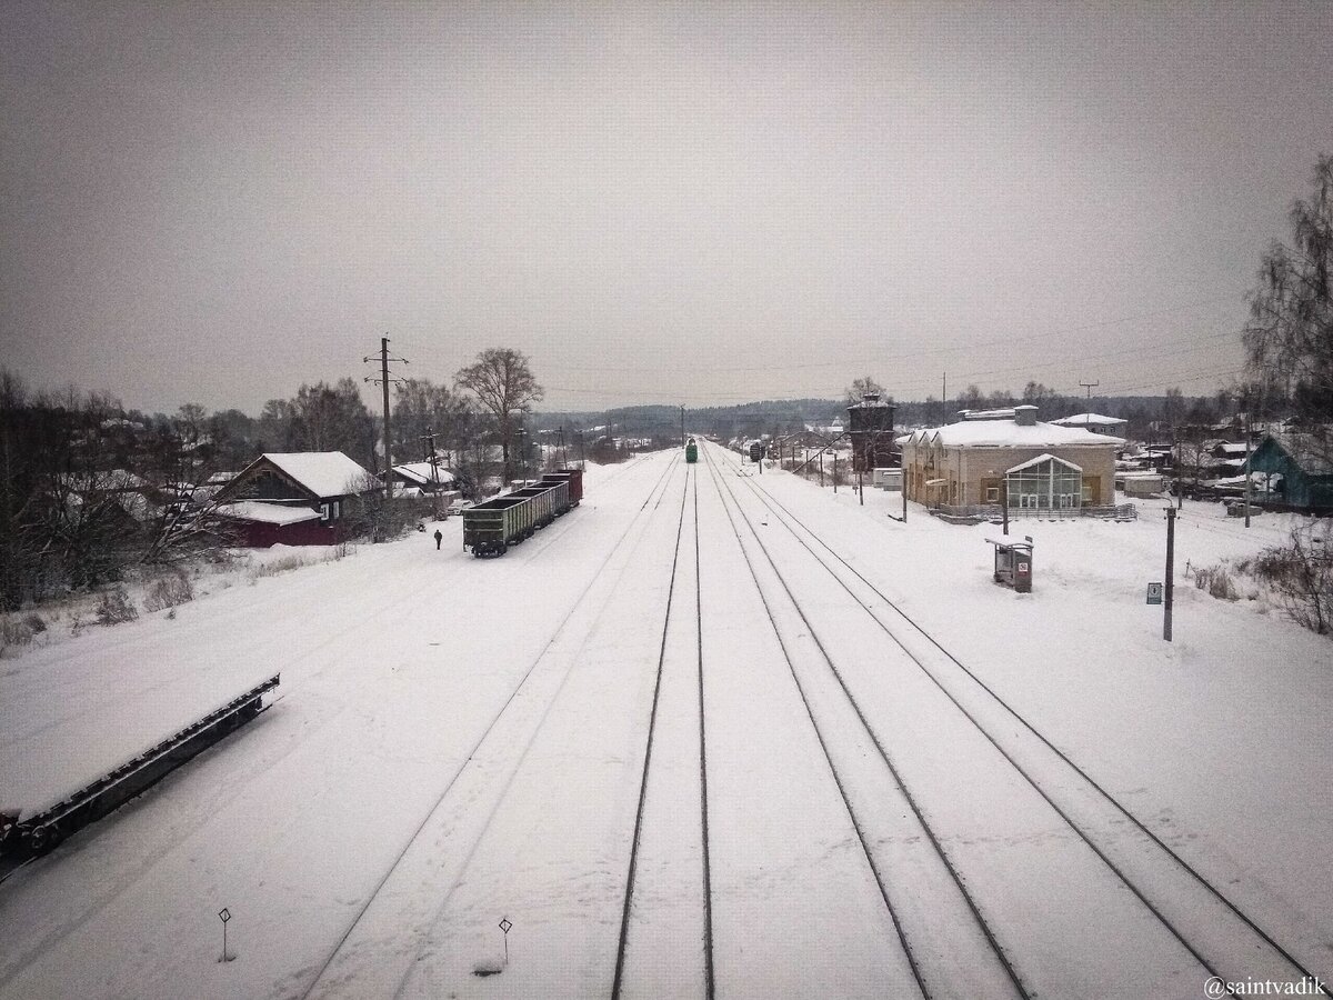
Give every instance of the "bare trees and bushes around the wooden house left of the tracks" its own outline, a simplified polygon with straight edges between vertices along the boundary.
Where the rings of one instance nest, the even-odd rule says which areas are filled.
[[[433,440],[471,489],[495,473],[512,479],[515,437],[540,399],[528,359],[511,348],[483,351],[452,385],[401,381],[393,461],[427,457]],[[351,377],[301,385],[252,417],[195,403],[144,413],[76,387],[33,391],[0,369],[0,611],[227,544],[207,499],[264,452],[341,451],[383,472],[381,431]]]

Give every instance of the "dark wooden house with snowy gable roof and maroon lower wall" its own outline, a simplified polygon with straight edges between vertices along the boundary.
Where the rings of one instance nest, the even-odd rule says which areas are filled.
[[[383,487],[343,452],[265,452],[215,497],[240,544],[335,545],[345,539],[345,503]]]

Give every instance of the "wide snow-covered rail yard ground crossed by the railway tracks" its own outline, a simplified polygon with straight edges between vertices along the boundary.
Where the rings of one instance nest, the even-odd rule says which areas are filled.
[[[756,472],[589,467],[501,559],[451,519],[0,661],[27,809],[283,675],[0,885],[0,997],[1333,981],[1333,644],[1185,579],[1293,519],[1186,504],[1166,643],[1162,503],[1014,521],[1017,595],[996,525]]]

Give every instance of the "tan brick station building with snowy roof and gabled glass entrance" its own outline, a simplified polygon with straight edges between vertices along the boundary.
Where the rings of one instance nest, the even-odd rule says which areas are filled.
[[[1042,423],[1030,405],[1012,413],[900,437],[908,499],[954,508],[1006,501],[1014,513],[1114,504],[1124,439]]]

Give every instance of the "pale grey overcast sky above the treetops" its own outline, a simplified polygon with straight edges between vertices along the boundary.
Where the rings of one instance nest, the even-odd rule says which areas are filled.
[[[149,411],[1210,392],[1333,152],[1322,0],[0,16],[0,364]]]

